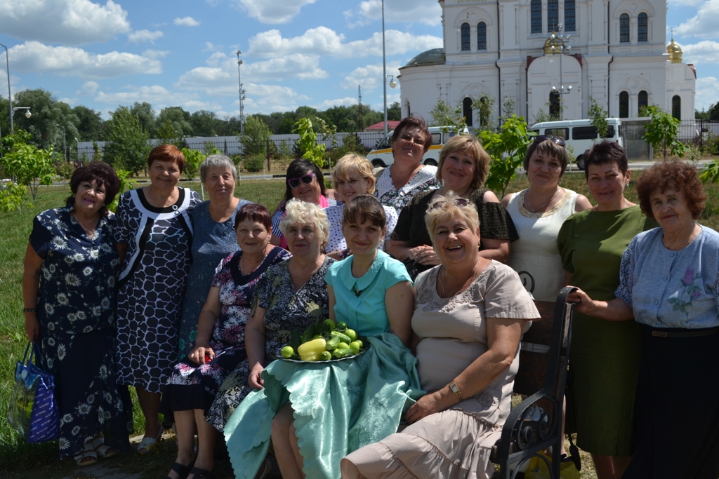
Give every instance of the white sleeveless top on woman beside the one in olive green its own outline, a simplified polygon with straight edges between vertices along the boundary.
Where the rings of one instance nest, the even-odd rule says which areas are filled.
[[[554,208],[544,213],[531,213],[524,208],[527,190],[514,193],[507,210],[519,233],[510,249],[509,266],[520,273],[527,287],[526,271],[534,280],[532,296],[537,301],[555,301],[564,284],[564,268],[559,256],[557,236],[564,220],[574,214],[577,193],[564,188],[564,195]]]

